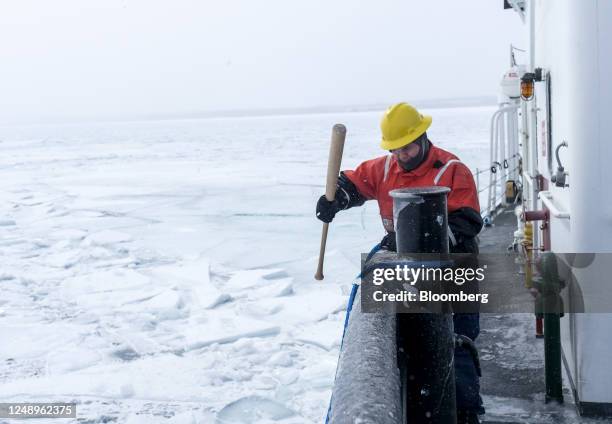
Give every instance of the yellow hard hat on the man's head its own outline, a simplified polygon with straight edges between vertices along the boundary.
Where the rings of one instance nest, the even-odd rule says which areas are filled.
[[[380,129],[383,138],[380,147],[395,150],[412,143],[431,125],[431,116],[421,115],[408,103],[398,103],[385,112]]]

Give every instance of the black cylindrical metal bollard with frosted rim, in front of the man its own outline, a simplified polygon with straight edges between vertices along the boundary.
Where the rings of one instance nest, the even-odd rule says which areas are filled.
[[[448,254],[447,187],[393,190],[397,252]],[[455,340],[450,313],[398,314],[405,423],[455,424]]]

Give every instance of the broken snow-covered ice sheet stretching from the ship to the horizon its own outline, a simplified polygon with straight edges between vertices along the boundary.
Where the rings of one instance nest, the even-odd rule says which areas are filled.
[[[484,168],[494,110],[426,111],[428,133]],[[321,422],[383,230],[374,203],[338,215],[316,282],[314,207],[333,124],[346,169],[384,154],[379,118],[1,127],[1,401],[75,401],[92,423]]]

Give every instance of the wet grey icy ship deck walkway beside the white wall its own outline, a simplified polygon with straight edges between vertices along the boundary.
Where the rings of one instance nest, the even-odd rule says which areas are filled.
[[[508,250],[516,228],[511,209],[500,212],[493,225],[480,235],[481,254],[499,253],[514,256]],[[508,290],[524,291],[524,276],[513,260],[504,261],[497,270],[496,282],[504,282]],[[533,313],[483,313],[481,332],[477,339],[482,379],[481,394],[486,424],[501,423],[601,423],[606,421],[580,417],[573,403],[564,376],[563,405],[544,402],[544,340],[535,337]]]

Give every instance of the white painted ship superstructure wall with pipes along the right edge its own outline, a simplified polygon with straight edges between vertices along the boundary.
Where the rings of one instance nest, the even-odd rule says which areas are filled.
[[[533,95],[526,87],[520,100],[506,96],[500,106],[518,105],[520,111],[515,147],[522,159],[522,212],[540,214],[533,222],[534,255],[552,251],[572,267],[573,276],[561,275],[572,290],[565,305],[569,313],[561,318],[561,340],[565,376],[579,410],[609,415],[612,2],[506,3],[529,33],[526,63],[513,70],[523,84],[533,84]],[[506,94],[514,89],[509,85],[506,78]],[[511,144],[501,143],[509,151]],[[494,149],[499,145],[499,140],[492,143]]]

